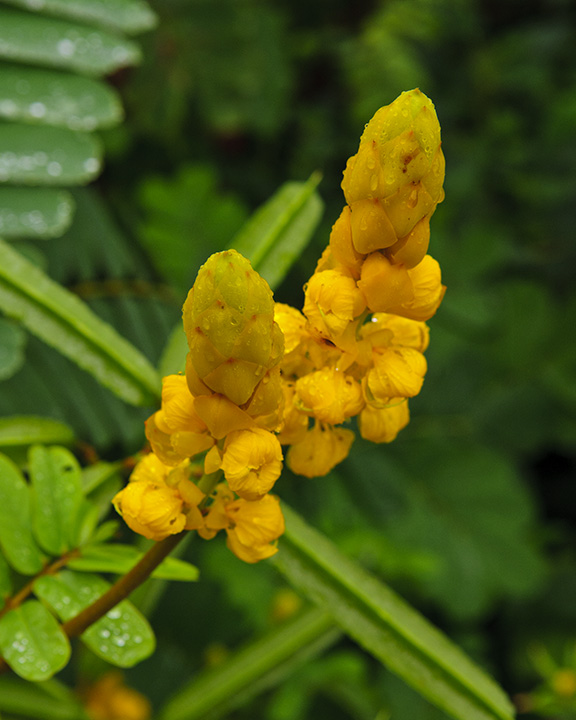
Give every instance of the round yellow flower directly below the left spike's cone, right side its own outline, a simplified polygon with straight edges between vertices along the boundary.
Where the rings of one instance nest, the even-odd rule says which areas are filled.
[[[275,435],[262,428],[229,433],[222,470],[230,488],[246,500],[265,495],[282,472],[282,448]]]

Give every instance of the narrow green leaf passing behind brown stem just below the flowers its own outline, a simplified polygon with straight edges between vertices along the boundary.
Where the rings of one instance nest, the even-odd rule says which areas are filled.
[[[82,548],[79,557],[68,562],[71,570],[82,572],[106,572],[125,575],[142,558],[133,545],[89,545]],[[198,568],[178,558],[166,558],[152,573],[153,578],[161,580],[198,580]]]

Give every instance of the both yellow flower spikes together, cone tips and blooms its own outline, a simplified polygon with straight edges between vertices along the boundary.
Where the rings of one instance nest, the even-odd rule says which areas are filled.
[[[425,321],[445,290],[426,254],[443,179],[434,107],[419,90],[403,93],[348,161],[347,205],[302,313],[275,304],[235,250],[208,259],[183,307],[186,374],[164,378],[161,408],[146,422],[152,454],[114,498],[133,530],[154,540],[224,530],[239,558],[257,562],[284,532],[268,494],[282,445],[295,473],[315,477],[348,455],[354,433],[341,426],[353,417],[368,440],[396,437],[424,381]],[[208,485],[193,482],[191,460]]]

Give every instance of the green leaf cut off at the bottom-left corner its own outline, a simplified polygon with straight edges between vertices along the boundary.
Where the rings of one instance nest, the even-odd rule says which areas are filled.
[[[55,679],[31,684],[0,677],[0,710],[34,720],[88,720],[74,692]]]

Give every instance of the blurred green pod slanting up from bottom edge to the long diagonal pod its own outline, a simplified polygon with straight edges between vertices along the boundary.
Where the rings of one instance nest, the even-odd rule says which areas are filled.
[[[168,701],[161,720],[216,720],[332,645],[340,633],[323,610],[309,609],[208,669]]]

